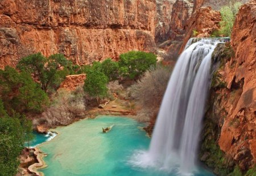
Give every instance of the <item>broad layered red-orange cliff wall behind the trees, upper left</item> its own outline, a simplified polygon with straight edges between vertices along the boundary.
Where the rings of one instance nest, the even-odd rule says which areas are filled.
[[[0,67],[41,51],[83,65],[129,50],[154,51],[151,0],[2,0]]]

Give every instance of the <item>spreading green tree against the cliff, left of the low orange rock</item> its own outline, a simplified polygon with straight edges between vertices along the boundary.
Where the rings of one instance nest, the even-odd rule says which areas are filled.
[[[64,79],[63,75],[60,76],[61,68],[71,65],[71,61],[68,61],[63,54],[53,54],[47,58],[37,53],[22,58],[17,68],[30,72],[38,78],[42,89],[47,92],[49,85],[60,83],[60,80]]]

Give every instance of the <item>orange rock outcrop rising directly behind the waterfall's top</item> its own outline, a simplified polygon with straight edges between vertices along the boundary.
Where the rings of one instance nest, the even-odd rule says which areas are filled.
[[[193,37],[193,30],[198,32],[196,37],[209,37],[213,31],[218,30],[220,28],[221,15],[220,12],[212,10],[212,7],[200,7],[187,21],[180,53],[183,51],[189,38]]]

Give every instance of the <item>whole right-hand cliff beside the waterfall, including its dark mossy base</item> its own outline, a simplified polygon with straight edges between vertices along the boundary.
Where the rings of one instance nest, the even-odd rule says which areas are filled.
[[[236,166],[246,173],[256,163],[255,0],[240,8],[231,38],[214,51],[220,65],[212,77],[201,147],[201,160],[219,175]]]

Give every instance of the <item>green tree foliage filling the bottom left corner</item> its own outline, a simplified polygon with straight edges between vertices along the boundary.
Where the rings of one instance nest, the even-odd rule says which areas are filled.
[[[10,117],[0,99],[0,171],[1,176],[16,175],[18,156],[24,142],[31,140],[32,123],[24,115],[13,113]],[[29,137],[29,138],[28,138]]]

